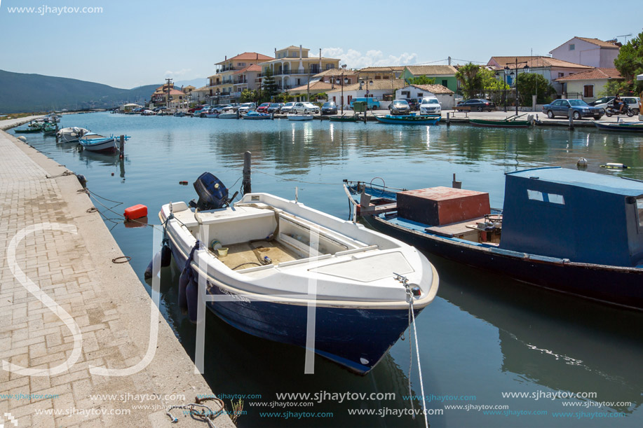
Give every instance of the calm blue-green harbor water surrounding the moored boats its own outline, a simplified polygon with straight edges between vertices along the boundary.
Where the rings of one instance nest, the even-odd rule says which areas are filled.
[[[342,179],[381,177],[388,186],[423,188],[451,186],[456,173],[463,188],[488,191],[494,207],[502,206],[504,172],[547,165],[575,168],[581,156],[587,158],[589,171],[643,179],[643,137],[590,128],[487,130],[466,125],[407,127],[109,113],[64,116],[62,126],[132,137],[120,161],[117,155],[79,152],[76,144],[56,144],[53,137],[26,134],[36,149],[84,174],[91,191],[123,202],[114,211],[147,205],[150,223],[158,223],[156,213],[162,204],[195,198],[191,183],[202,172],[217,175],[231,193],[239,190],[245,151],[252,152],[253,191],[294,199],[297,187],[300,202],[344,219],[348,218],[348,202]],[[600,167],[607,162],[630,168]],[[181,186],[182,180],[190,185]],[[96,206],[108,218],[107,226],[123,254],[132,257],[131,264],[142,279],[153,252],[151,228],[126,228],[116,215]],[[643,425],[643,315],[534,289],[435,256],[430,259],[440,273],[440,290],[417,319],[417,329],[424,392],[431,396],[426,403],[433,413],[428,416],[431,426]],[[196,329],[177,305],[179,275],[180,268],[174,263],[163,270],[161,310],[194,357]],[[320,357],[315,374],[304,375],[303,350],[248,336],[211,315],[206,340],[205,378],[212,390],[261,396],[244,400],[247,414],[239,418],[239,427],[424,426],[422,417],[413,420],[410,415],[399,415],[412,404],[416,409],[421,406],[421,400],[407,399],[408,340],[398,341],[365,377]],[[415,363],[411,380],[412,394],[419,396]],[[269,403],[290,401],[278,400],[276,393],[280,392],[394,395],[341,403],[317,400],[313,406],[299,406],[298,401],[298,406],[271,408]],[[529,396],[503,396],[508,392]],[[590,393],[595,398],[551,399],[558,392]],[[266,404],[251,406],[258,402]],[[607,403],[597,406],[601,402]],[[492,408],[478,410],[480,406]],[[374,414],[349,414],[355,409]],[[332,412],[332,416],[285,419],[260,414],[280,411]]]

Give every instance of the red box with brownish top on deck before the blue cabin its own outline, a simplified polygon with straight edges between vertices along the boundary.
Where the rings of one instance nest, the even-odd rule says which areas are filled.
[[[489,193],[431,187],[398,192],[398,215],[428,226],[478,219],[491,212]]]

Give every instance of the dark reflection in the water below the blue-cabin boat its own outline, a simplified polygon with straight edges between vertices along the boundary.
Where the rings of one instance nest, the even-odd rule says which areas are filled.
[[[632,413],[643,402],[643,317],[535,289],[442,258],[439,295],[498,329],[502,371],[553,391],[596,392]]]

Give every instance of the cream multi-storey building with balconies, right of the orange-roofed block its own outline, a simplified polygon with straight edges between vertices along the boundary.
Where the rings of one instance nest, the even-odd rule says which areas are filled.
[[[302,48],[301,45],[275,50],[274,59],[259,64],[262,74],[270,69],[278,90],[287,92],[312,83],[316,80],[313,76],[322,71],[339,68],[337,58],[322,57],[321,49],[318,57],[309,57],[309,51],[310,49]]]

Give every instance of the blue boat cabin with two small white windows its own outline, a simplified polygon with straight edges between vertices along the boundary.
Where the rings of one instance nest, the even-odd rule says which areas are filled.
[[[643,264],[643,181],[560,167],[506,174],[501,249]]]

